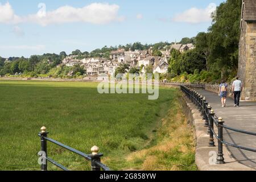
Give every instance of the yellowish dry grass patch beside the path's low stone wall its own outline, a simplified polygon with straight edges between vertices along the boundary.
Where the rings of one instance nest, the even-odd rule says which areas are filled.
[[[146,171],[197,170],[193,129],[181,112],[178,98],[161,122],[156,133],[157,144],[134,152],[127,157],[127,161],[141,164],[137,168]]]

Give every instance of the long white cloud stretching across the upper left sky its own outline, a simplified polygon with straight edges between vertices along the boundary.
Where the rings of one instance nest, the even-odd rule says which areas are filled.
[[[27,16],[17,16],[14,13],[9,2],[5,5],[0,5],[0,23],[22,23],[32,22],[42,26],[49,24],[62,23],[92,23],[92,24],[107,24],[115,21],[122,21],[124,18],[118,15],[119,6],[109,5],[108,3],[92,3],[82,8],[72,6],[61,6],[53,11],[42,12],[42,9],[36,14]],[[42,16],[42,13],[44,15]],[[3,15],[2,15],[3,14]]]

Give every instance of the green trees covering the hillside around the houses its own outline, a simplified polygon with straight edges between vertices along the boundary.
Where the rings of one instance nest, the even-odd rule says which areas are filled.
[[[227,0],[217,7],[216,13],[212,16],[212,25],[207,32],[200,32],[193,38],[183,38],[177,44],[192,43],[195,49],[181,53],[176,49],[170,50],[168,59],[168,73],[161,75],[172,81],[190,82],[219,82],[220,80],[232,81],[237,75],[238,68],[238,44],[240,40],[240,18],[242,0]],[[109,59],[110,52],[117,49],[125,51],[146,50],[153,48],[153,56],[162,56],[161,51],[170,49],[174,43],[160,42],[156,44],[133,44],[119,45],[115,47],[102,47],[92,52],[82,52],[79,49],[70,55],[76,59],[90,57],[102,57]],[[86,70],[76,65],[67,67],[62,65],[62,60],[70,56],[66,52],[46,53],[44,55],[32,55],[30,58],[0,57],[0,75],[22,75],[23,77],[79,77],[86,73]],[[117,69],[118,72],[127,72],[127,65]],[[130,68],[129,73],[139,72],[138,68]],[[151,72],[151,69],[147,69]],[[70,73],[72,73],[70,75]]]

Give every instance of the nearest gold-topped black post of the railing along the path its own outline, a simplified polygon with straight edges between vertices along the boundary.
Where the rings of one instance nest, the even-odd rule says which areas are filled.
[[[216,164],[225,164],[223,155],[223,123],[222,118],[218,118],[218,157]]]

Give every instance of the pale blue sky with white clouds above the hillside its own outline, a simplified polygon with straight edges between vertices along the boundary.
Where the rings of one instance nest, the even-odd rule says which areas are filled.
[[[207,31],[224,0],[0,0],[0,56],[67,54]]]

